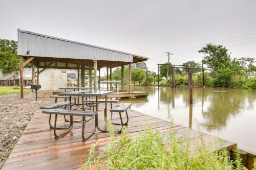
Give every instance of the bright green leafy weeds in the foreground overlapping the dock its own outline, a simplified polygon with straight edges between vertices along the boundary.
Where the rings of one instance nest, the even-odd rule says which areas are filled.
[[[111,126],[111,125],[110,125]],[[113,126],[111,126],[113,130]],[[178,137],[179,136],[179,137]],[[222,141],[217,142],[220,147]],[[231,169],[227,151],[212,152],[203,137],[190,145],[188,133],[160,133],[147,127],[134,138],[125,131],[119,138],[111,132],[111,140],[95,156],[97,143],[91,147],[87,162],[81,169]],[[237,163],[239,166],[239,162]],[[244,167],[236,167],[244,169]]]

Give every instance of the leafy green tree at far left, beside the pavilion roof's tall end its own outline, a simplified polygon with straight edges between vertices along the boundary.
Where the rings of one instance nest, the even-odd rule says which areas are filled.
[[[18,65],[17,41],[0,39],[0,69],[6,74],[17,70]]]

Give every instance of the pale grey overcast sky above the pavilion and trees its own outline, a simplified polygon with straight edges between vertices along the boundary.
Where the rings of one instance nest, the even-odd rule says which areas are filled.
[[[225,45],[231,57],[256,57],[255,0],[4,1],[0,38],[17,29],[93,44],[157,63],[201,62],[206,43]]]

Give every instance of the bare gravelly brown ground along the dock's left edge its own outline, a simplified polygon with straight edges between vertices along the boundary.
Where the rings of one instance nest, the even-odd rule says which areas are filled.
[[[18,96],[0,98],[0,169],[38,106],[33,101]]]

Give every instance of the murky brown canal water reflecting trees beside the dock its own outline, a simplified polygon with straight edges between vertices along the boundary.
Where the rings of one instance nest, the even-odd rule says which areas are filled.
[[[139,87],[147,99],[135,99],[132,109],[176,124],[237,142],[238,147],[256,153],[256,90],[194,88],[193,106],[188,88]]]

